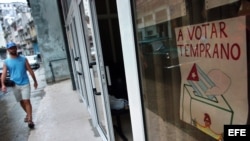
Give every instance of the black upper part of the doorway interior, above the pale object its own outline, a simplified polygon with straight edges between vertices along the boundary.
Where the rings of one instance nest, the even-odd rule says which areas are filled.
[[[96,10],[104,65],[110,70],[108,92],[116,98],[128,99],[116,1],[96,1]]]

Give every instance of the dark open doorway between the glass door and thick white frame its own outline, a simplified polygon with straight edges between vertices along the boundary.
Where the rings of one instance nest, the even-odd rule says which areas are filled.
[[[116,0],[95,1],[108,94],[128,100]],[[133,140],[128,109],[112,109],[115,140]]]

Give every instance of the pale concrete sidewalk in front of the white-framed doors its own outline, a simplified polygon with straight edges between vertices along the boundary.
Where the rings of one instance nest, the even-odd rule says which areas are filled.
[[[47,85],[28,141],[102,141],[71,80]]]

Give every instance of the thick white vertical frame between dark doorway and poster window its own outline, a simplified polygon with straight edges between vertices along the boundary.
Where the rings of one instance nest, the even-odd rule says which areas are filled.
[[[145,141],[131,2],[130,0],[116,0],[116,3],[130,105],[133,140]]]

